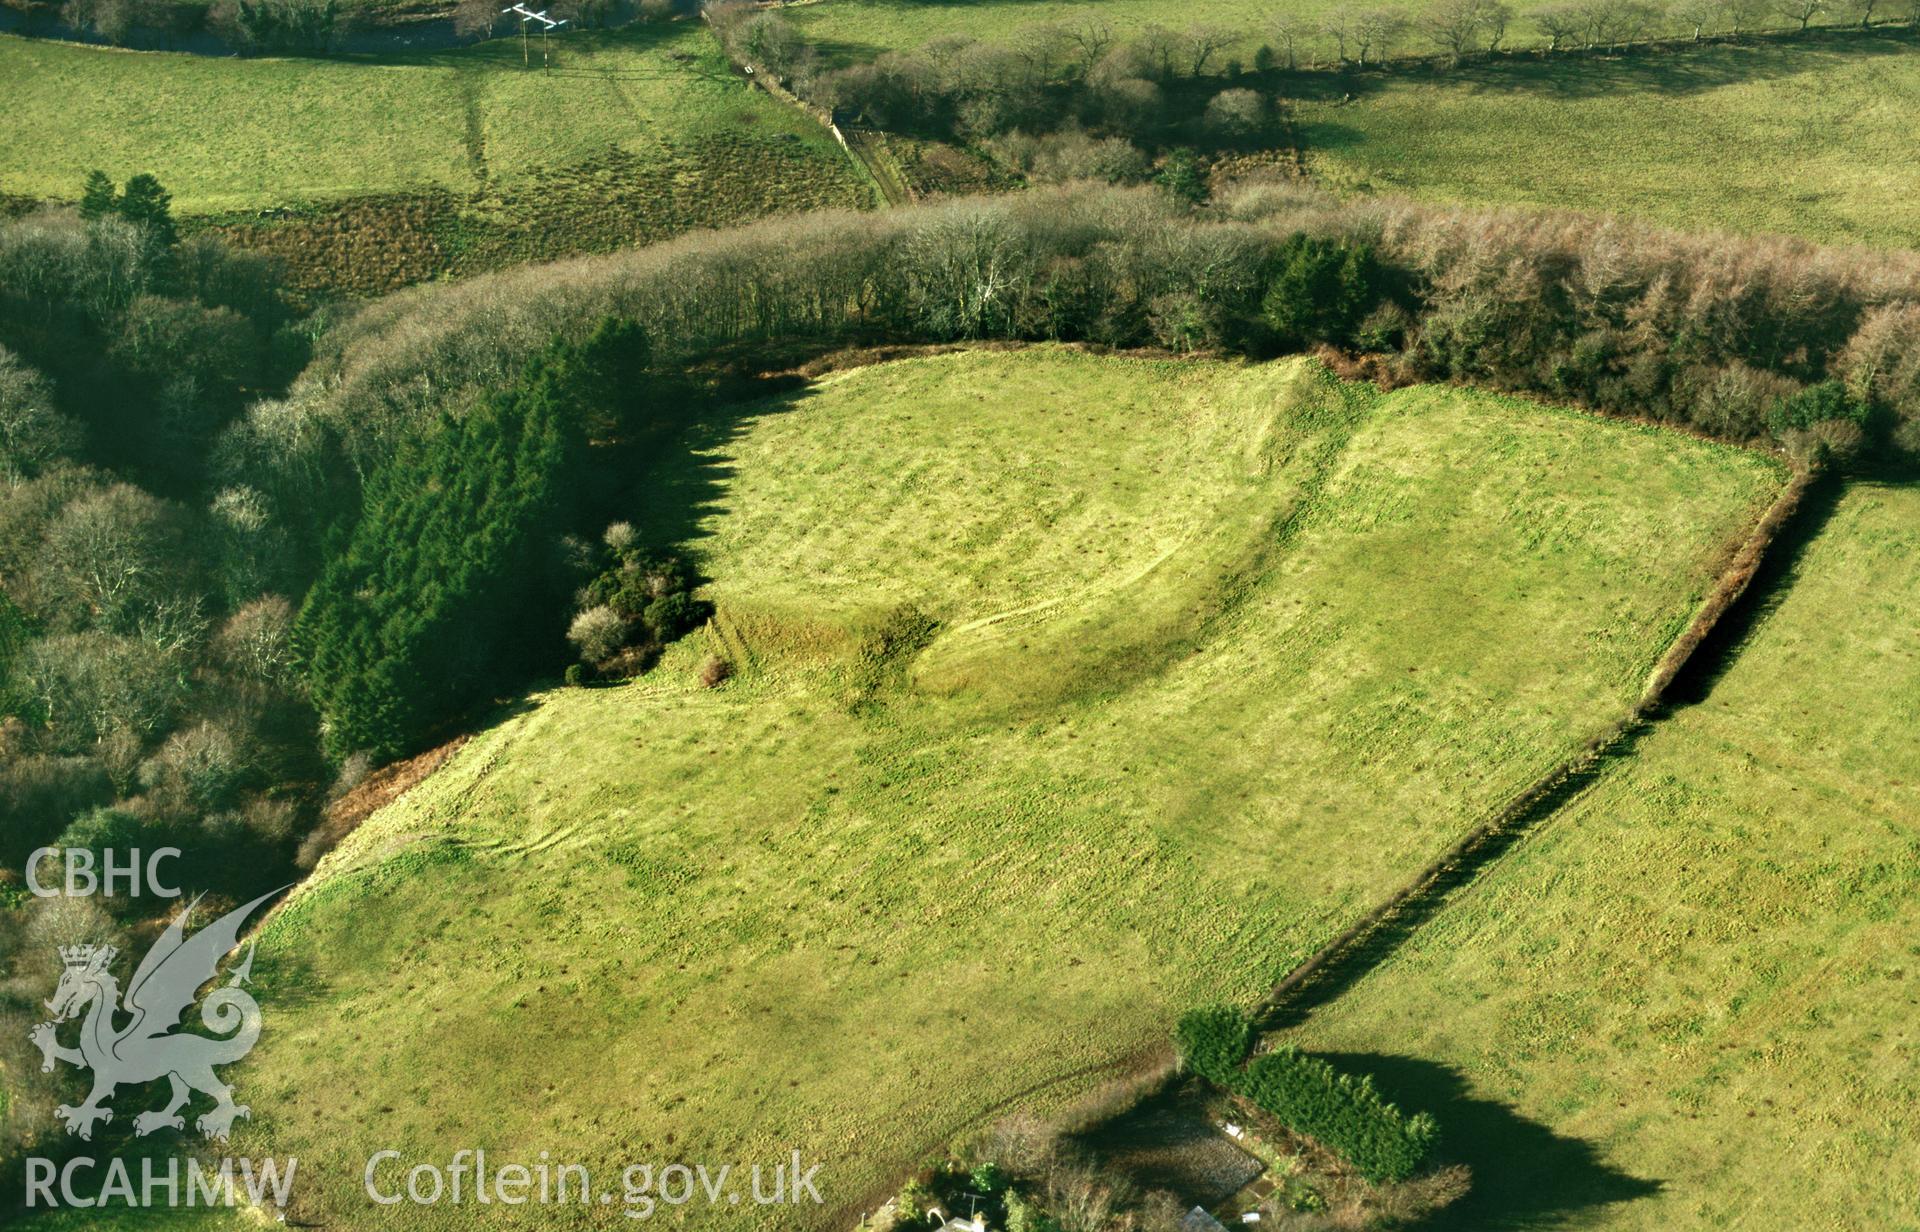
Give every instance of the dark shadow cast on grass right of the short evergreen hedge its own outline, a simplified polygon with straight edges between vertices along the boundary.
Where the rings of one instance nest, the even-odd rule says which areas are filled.
[[[1384,1054],[1315,1055],[1344,1073],[1373,1075],[1380,1094],[1407,1113],[1432,1113],[1440,1123],[1436,1161],[1473,1169],[1473,1190],[1417,1224],[1423,1232],[1553,1228],[1597,1207],[1661,1192],[1659,1180],[1615,1169],[1592,1144],[1476,1098],[1465,1075],[1450,1065]]]

